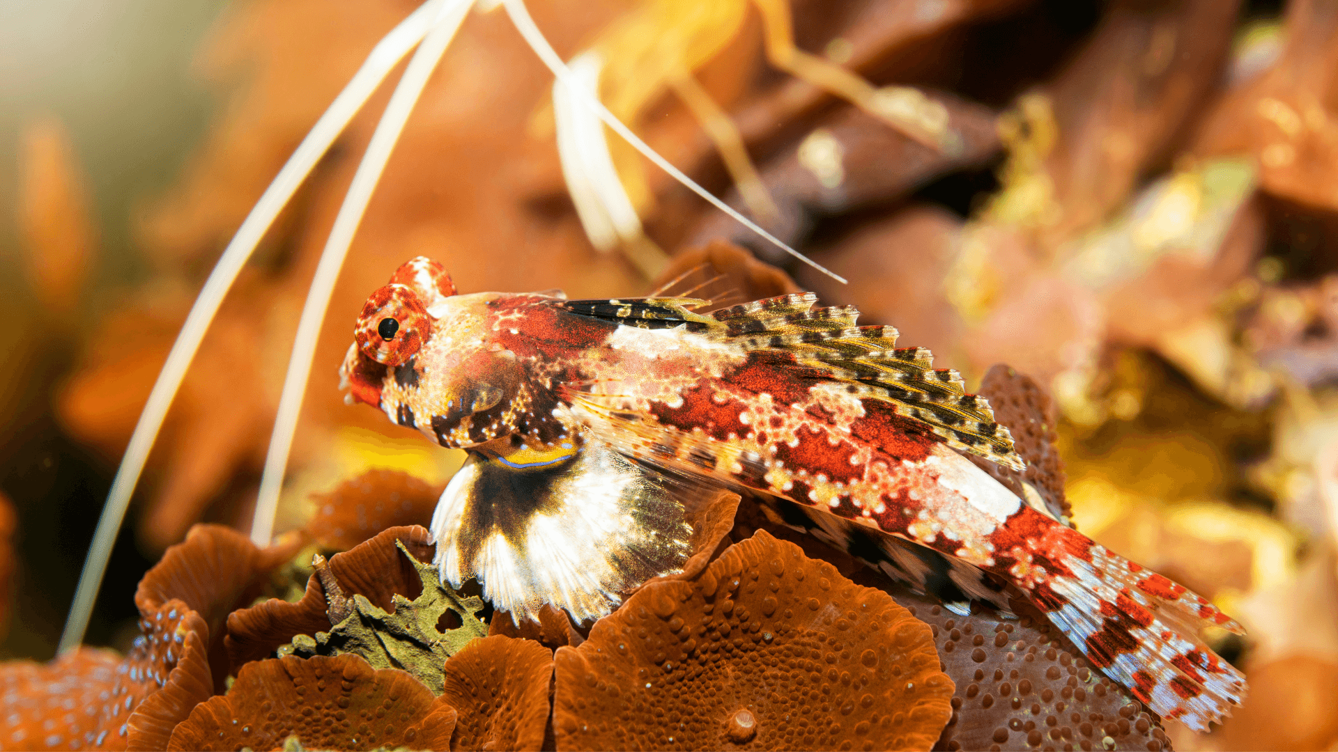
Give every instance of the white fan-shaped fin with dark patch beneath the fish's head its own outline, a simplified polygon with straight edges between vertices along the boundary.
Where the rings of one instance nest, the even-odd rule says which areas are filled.
[[[688,558],[692,530],[670,491],[599,442],[549,462],[471,452],[432,516],[436,565],[455,586],[478,578],[511,614],[553,603],[598,618]]]

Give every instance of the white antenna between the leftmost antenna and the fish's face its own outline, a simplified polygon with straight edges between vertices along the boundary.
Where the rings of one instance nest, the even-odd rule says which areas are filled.
[[[321,332],[321,322],[325,320],[325,310],[329,308],[340,268],[348,254],[348,246],[353,242],[353,234],[357,233],[367,203],[372,198],[377,181],[381,179],[381,171],[395,149],[395,142],[400,138],[400,131],[404,130],[409,112],[472,4],[472,0],[434,0],[429,3],[432,31],[413,52],[413,58],[404,70],[404,78],[395,87],[395,94],[391,95],[391,102],[385,106],[385,112],[376,124],[372,140],[367,145],[367,153],[363,154],[363,161],[357,165],[353,182],[349,183],[348,193],[344,194],[339,215],[334,217],[334,225],[330,227],[325,249],[321,252],[321,261],[316,266],[316,276],[306,292],[306,304],[302,306],[302,317],[297,324],[297,340],[293,343],[293,355],[288,361],[288,376],[284,379],[284,392],[278,397],[274,432],[269,438],[269,454],[265,455],[265,470],[261,474],[260,492],[256,498],[256,515],[252,518],[252,541],[257,546],[268,546],[274,533],[278,492],[284,486],[288,454],[293,447],[293,434],[297,431],[302,395],[306,392],[306,380],[312,373],[316,340]]]

